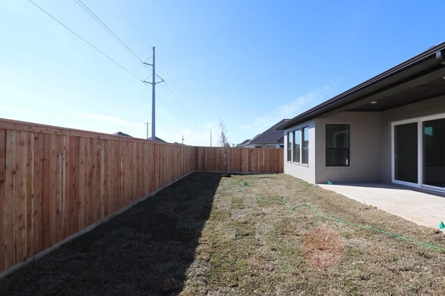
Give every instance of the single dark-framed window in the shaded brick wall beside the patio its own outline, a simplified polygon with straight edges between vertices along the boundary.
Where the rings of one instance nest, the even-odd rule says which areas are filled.
[[[349,124],[326,124],[326,166],[349,164]]]

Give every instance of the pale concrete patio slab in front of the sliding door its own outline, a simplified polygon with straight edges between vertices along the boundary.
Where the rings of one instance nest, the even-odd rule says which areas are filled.
[[[439,229],[439,223],[445,223],[445,197],[380,183],[318,186],[417,224]]]

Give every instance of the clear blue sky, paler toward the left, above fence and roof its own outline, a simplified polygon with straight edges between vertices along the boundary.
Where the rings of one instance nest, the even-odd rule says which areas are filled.
[[[188,145],[216,146],[220,120],[250,139],[445,40],[445,1],[81,0],[136,58],[79,0],[33,1],[109,58],[0,0],[0,117],[145,138],[154,46],[156,136]]]

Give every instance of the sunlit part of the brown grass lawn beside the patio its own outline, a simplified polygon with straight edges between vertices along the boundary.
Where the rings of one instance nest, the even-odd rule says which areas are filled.
[[[232,176],[220,181],[184,295],[445,295],[444,253],[255,195],[445,247],[440,231],[292,176]]]

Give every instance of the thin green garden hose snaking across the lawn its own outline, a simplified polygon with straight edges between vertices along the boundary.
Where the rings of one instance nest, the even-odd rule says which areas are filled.
[[[243,187],[249,187],[249,184],[247,182],[244,182],[243,183]],[[280,199],[280,198],[262,199],[261,197],[259,197],[257,195],[254,195],[254,196],[260,202],[264,202],[264,203],[280,202],[280,203],[284,204],[284,206],[286,206],[286,208],[289,208],[289,210],[291,210],[291,211],[295,210],[296,208],[309,208],[312,211],[312,213],[314,213],[314,214],[316,214],[316,215],[318,215],[320,217],[323,217],[324,219],[332,220],[332,221],[335,221],[335,222],[340,222],[340,223],[343,223],[343,224],[353,225],[355,227],[362,228],[362,229],[367,229],[367,230],[383,233],[383,234],[386,234],[387,236],[394,236],[395,238],[401,238],[403,240],[408,240],[410,242],[415,242],[416,244],[423,245],[423,246],[429,247],[431,249],[437,249],[440,252],[445,252],[445,248],[439,247],[437,245],[428,244],[428,242],[421,242],[420,240],[414,240],[413,238],[407,238],[405,236],[400,236],[400,235],[398,235],[396,233],[391,233],[389,231],[380,230],[380,229],[376,229],[374,227],[369,227],[369,226],[365,226],[365,225],[362,225],[362,224],[348,222],[346,220],[341,220],[341,219],[337,219],[337,218],[334,218],[334,217],[330,217],[330,216],[324,215],[324,214],[318,212],[315,208],[312,208],[312,206],[309,206],[309,204],[297,204],[296,206],[289,206],[289,204],[286,201],[284,201],[284,199]]]

